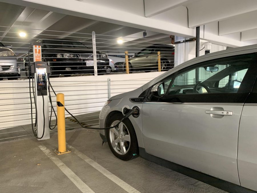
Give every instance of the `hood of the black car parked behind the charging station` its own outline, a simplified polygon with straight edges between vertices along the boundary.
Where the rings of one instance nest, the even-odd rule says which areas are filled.
[[[80,47],[43,48],[42,52],[47,52],[47,53],[90,53],[90,54],[93,54],[92,49],[80,48]],[[105,53],[97,50],[97,54],[105,54]]]

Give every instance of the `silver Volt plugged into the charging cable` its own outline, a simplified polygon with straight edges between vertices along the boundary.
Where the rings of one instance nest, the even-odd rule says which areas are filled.
[[[114,126],[125,108],[140,113],[100,130],[101,138],[122,160],[140,155],[203,181],[212,176],[207,183],[219,179],[217,187],[221,179],[257,190],[256,53],[250,45],[197,57],[111,97],[100,127]]]

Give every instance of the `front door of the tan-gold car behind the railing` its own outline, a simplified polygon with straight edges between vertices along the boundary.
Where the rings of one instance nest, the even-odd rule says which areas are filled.
[[[131,61],[132,67],[137,70],[144,70],[146,67],[149,67],[151,52],[152,49],[147,48],[137,53],[136,57]]]

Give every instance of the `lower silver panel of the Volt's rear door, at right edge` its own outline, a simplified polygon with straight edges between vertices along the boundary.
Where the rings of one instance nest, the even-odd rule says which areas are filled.
[[[245,104],[238,132],[238,174],[241,186],[257,191],[257,104]]]

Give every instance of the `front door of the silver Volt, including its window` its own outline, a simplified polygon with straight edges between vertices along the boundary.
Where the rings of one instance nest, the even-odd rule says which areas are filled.
[[[255,54],[214,59],[163,79],[164,96],[150,94],[142,105],[146,152],[240,184],[238,126],[255,80],[254,62]],[[244,75],[237,79],[242,70]]]

